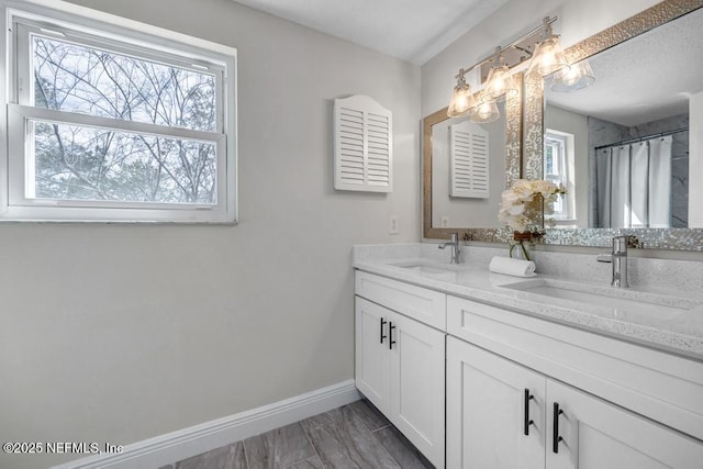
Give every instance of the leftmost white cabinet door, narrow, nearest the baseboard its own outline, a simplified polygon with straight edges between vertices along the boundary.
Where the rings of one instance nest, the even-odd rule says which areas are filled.
[[[388,322],[393,312],[356,297],[356,387],[381,412],[391,412]]]

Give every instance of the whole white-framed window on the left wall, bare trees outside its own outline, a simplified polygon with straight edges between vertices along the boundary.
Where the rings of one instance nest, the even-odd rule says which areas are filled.
[[[45,12],[5,13],[1,216],[234,222],[236,52]]]

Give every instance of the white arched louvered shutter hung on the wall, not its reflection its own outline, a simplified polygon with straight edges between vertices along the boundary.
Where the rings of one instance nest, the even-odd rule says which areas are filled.
[[[366,96],[334,100],[334,188],[392,192],[391,111]]]

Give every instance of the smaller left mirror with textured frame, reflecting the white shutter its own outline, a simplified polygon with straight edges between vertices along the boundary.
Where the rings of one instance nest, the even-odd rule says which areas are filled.
[[[512,231],[499,223],[498,208],[502,191],[521,177],[523,77],[517,74],[514,78],[521,92],[498,103],[500,118],[494,122],[476,124],[468,118],[449,119],[447,108],[423,119],[425,238],[443,239],[449,233],[459,233],[466,241],[502,243],[512,236]],[[487,152],[486,167],[479,164],[487,177],[469,188],[462,182],[471,177],[467,172],[476,169],[476,163],[462,160],[462,136],[480,139]],[[473,186],[480,186],[480,190],[472,190]]]

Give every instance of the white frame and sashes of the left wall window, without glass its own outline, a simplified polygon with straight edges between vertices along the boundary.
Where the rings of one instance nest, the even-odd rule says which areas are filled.
[[[4,64],[7,79],[7,86],[0,87],[0,99],[7,103],[7,113],[0,113],[0,129],[7,135],[7,145],[0,148],[0,221],[236,223],[235,48],[62,1],[0,0],[0,5],[7,25],[5,34],[0,35],[0,63]],[[30,105],[33,87],[20,86],[27,77],[33,79],[30,33],[47,37],[55,34],[56,38],[213,74],[217,85],[216,129],[204,132]],[[23,49],[25,54],[18,53]],[[27,157],[33,155],[29,120],[212,143],[217,158],[216,203],[27,198],[25,185],[32,183]]]

